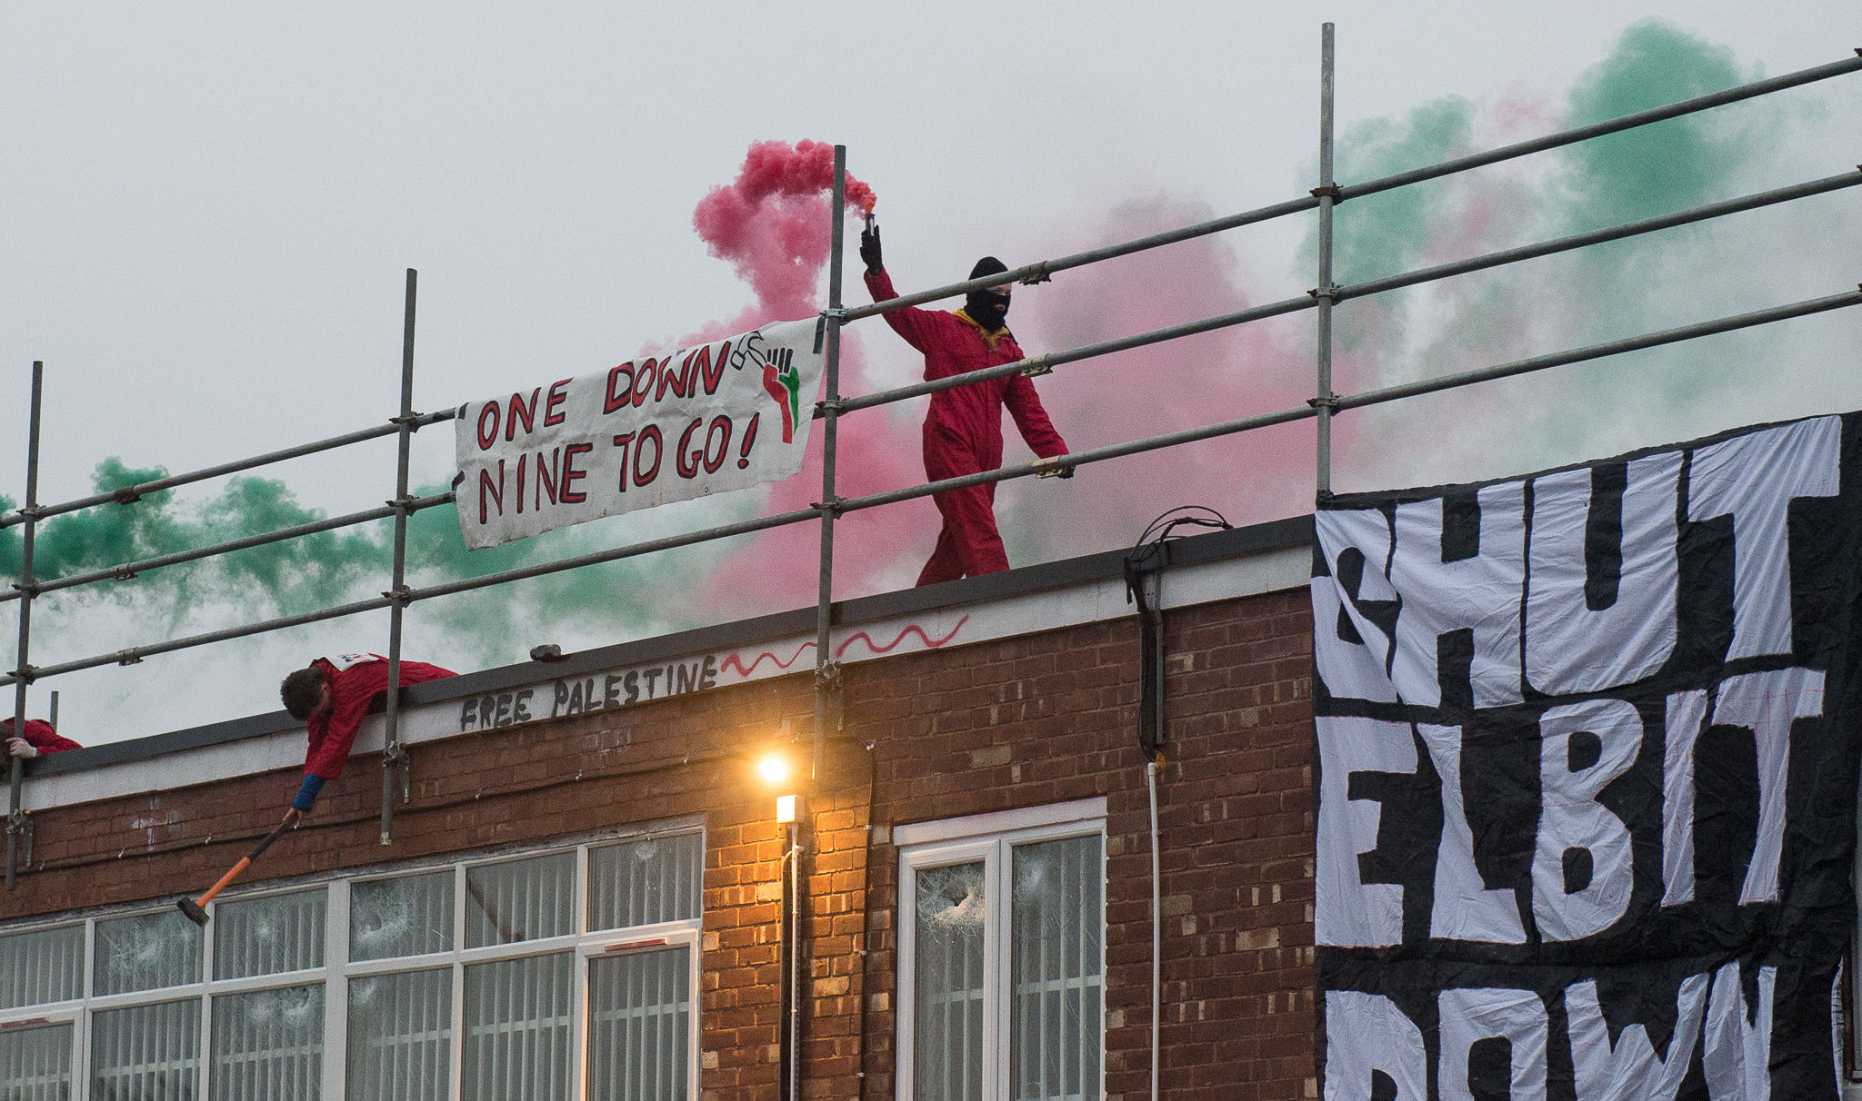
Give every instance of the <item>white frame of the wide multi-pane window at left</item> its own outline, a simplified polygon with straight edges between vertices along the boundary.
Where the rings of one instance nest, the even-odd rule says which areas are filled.
[[[464,1073],[464,1045],[466,1045],[466,967],[475,963],[490,963],[503,960],[518,960],[525,956],[551,956],[560,952],[572,954],[572,975],[573,975],[573,993],[570,997],[570,1081],[573,1082],[572,1097],[575,1101],[585,1101],[588,1097],[588,962],[603,956],[626,954],[626,952],[644,952],[644,950],[665,950],[665,948],[683,948],[685,967],[687,967],[687,991],[691,997],[691,1027],[685,1045],[685,1082],[687,1097],[696,1101],[698,1097],[698,1068],[700,1068],[700,1032],[702,1032],[702,982],[700,982],[700,934],[704,928],[704,842],[700,841],[700,867],[698,867],[698,915],[683,921],[668,921],[655,924],[626,926],[620,930],[590,930],[588,928],[588,883],[590,883],[590,850],[605,848],[613,844],[626,844],[633,841],[648,841],[654,837],[672,837],[672,835],[691,835],[696,833],[704,837],[704,824],[698,818],[680,818],[672,822],[659,822],[639,829],[620,829],[603,831],[600,835],[583,837],[570,842],[538,844],[534,848],[512,848],[505,846],[499,850],[484,850],[464,856],[451,856],[447,859],[426,859],[410,861],[400,865],[371,867],[371,869],[348,869],[335,874],[307,876],[292,880],[287,883],[274,883],[257,889],[238,891],[223,896],[223,902],[246,902],[251,898],[266,898],[277,895],[294,895],[304,891],[324,891],[324,965],[309,967],[300,971],[285,971],[276,975],[253,975],[246,978],[210,978],[214,973],[214,922],[212,917],[218,913],[222,900],[216,898],[209,906],[209,924],[203,934],[201,945],[201,973],[199,980],[184,982],[179,986],[166,986],[158,989],[143,989],[132,993],[115,995],[93,995],[95,989],[95,967],[97,967],[97,924],[123,919],[140,917],[149,913],[168,915],[173,921],[186,921],[175,913],[173,906],[147,906],[136,904],[127,908],[110,908],[93,911],[78,921],[69,917],[58,921],[37,921],[20,922],[13,926],[0,928],[0,934],[28,934],[50,928],[65,928],[73,924],[84,926],[84,982],[80,988],[80,997],[67,999],[60,1002],[43,1002],[34,1006],[19,1006],[9,1010],[0,1010],[0,1028],[24,1027],[24,1025],[73,1025],[73,1058],[71,1058],[71,1097],[74,1101],[84,1101],[89,1097],[91,1086],[91,1032],[93,1015],[104,1010],[119,1010],[128,1006],[151,1006],[162,1002],[192,1001],[197,1004],[201,1014],[199,1021],[199,1068],[196,1079],[196,1095],[203,1101],[212,1101],[209,1092],[212,1075],[212,1006],[218,997],[250,993],[261,989],[281,989],[296,986],[322,986],[324,988],[324,1064],[322,1064],[322,1095],[341,1099],[348,1090],[348,982],[352,978],[367,978],[374,975],[400,975],[408,971],[438,971],[451,969],[452,973],[452,1045],[451,1045],[451,1064],[449,1064],[449,1097],[458,1099],[462,1095]],[[479,948],[466,948],[466,872],[467,869],[479,869],[488,865],[510,863],[519,859],[557,856],[562,852],[573,852],[573,922],[570,934],[518,941],[514,945],[486,945]],[[365,960],[350,962],[350,887],[361,882],[378,880],[397,880],[402,876],[417,876],[423,872],[452,870],[452,948],[447,952],[428,952],[421,956],[395,956],[387,960]]]

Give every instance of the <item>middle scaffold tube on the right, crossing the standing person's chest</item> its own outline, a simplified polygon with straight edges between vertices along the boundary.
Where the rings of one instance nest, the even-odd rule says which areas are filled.
[[[1385,279],[1372,279],[1369,283],[1354,283],[1350,286],[1339,286],[1333,290],[1333,299],[1343,301],[1348,298],[1367,298],[1372,294],[1383,294],[1387,290],[1398,290],[1404,286],[1415,286],[1419,283],[1434,283],[1437,279],[1450,279],[1454,275],[1467,275],[1471,272],[1484,272],[1488,268],[1499,268],[1503,264],[1516,264],[1519,260],[1532,260],[1538,257],[1549,257],[1553,253],[1566,253],[1572,249],[1581,249],[1586,245],[1596,245],[1612,240],[1624,240],[1639,236],[1644,232],[1655,232],[1661,229],[1674,229],[1676,225],[1691,225],[1694,221],[1706,221],[1709,218],[1720,218],[1724,214],[1739,214],[1743,210],[1756,210],[1760,206],[1773,206],[1776,203],[1789,203],[1793,199],[1804,199],[1810,195],[1823,195],[1827,192],[1840,192],[1843,188],[1855,188],[1862,184],[1862,169],[1847,171],[1834,177],[1823,177],[1821,180],[1810,180],[1804,184],[1793,184],[1788,188],[1776,188],[1771,192],[1758,192],[1754,195],[1741,195],[1737,199],[1726,199],[1722,203],[1709,203],[1706,206],[1694,206],[1693,210],[1681,210],[1676,214],[1661,214],[1657,218],[1644,218],[1640,221],[1629,221],[1624,225],[1612,225],[1609,229],[1594,229],[1588,232],[1577,232],[1572,236],[1560,236],[1547,242],[1538,242],[1531,245],[1519,245],[1514,249],[1503,249],[1497,253],[1486,253],[1480,257],[1469,257],[1467,260],[1454,260],[1449,264],[1436,264],[1432,268],[1419,268],[1415,272],[1406,272],[1402,275],[1389,275]],[[1298,312],[1303,309],[1313,309],[1318,298],[1307,292],[1303,298],[1289,298],[1268,305],[1259,305],[1246,311],[1236,311],[1233,314],[1221,314],[1216,318],[1207,318],[1201,322],[1188,322],[1182,325],[1171,325],[1166,329],[1153,329],[1149,333],[1136,333],[1132,337],[1119,337],[1115,340],[1100,340],[1097,344],[1082,344],[1080,348],[1071,348],[1067,352],[1048,352],[1045,355],[1033,355],[1028,359],[1019,359],[1015,363],[1004,363],[998,366],[985,366],[979,370],[970,370],[965,374],[953,374],[948,378],[912,383],[907,387],[897,387],[892,391],[881,391],[877,394],[864,394],[858,398],[842,398],[840,411],[851,413],[855,409],[870,409],[873,405],[886,405],[892,402],[903,402],[907,398],[918,398],[922,394],[935,394],[938,391],[953,391],[957,387],[966,387],[983,379],[1007,378],[1013,374],[1045,374],[1048,368],[1059,366],[1063,363],[1078,363],[1082,359],[1097,359],[1100,355],[1112,355],[1113,352],[1128,352],[1132,348],[1143,348],[1149,344],[1162,344],[1166,340],[1175,340],[1179,337],[1194,337],[1197,333],[1208,333],[1214,329],[1227,329],[1233,325],[1244,325],[1248,322],[1259,322],[1264,318],[1274,318],[1281,314]],[[819,417],[819,407],[816,409]]]

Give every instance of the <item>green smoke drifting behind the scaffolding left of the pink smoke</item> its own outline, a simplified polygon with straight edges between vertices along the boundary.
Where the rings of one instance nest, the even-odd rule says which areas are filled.
[[[162,476],[166,471],[158,467],[134,469],[110,458],[99,463],[91,484],[95,491],[108,493]],[[443,491],[443,485],[426,485],[415,495]],[[11,510],[15,504],[0,498],[0,508]],[[270,478],[233,478],[220,495],[199,502],[177,500],[171,489],[149,493],[134,504],[106,504],[39,524],[34,575],[39,580],[58,578],[307,524],[324,515],[300,504],[289,485]],[[642,524],[627,524],[626,519],[467,552],[452,508],[428,508],[413,513],[408,523],[408,578],[410,584],[423,586],[484,577],[657,534],[642,534]],[[20,577],[20,543],[19,526],[0,530],[0,578],[7,582]],[[613,642],[648,630],[689,627],[693,610],[668,595],[678,593],[719,552],[693,547],[417,603],[410,610],[410,623],[419,621],[423,636],[449,651],[419,657],[499,664],[521,660],[533,642],[557,640],[564,632],[573,638],[577,630],[587,630]],[[61,643],[60,649],[76,645],[82,655],[45,658],[45,649],[35,643],[35,660],[45,664],[88,657],[115,645],[367,599],[387,588],[391,562],[393,521],[384,519],[151,569],[127,580],[60,590],[35,604],[45,608],[35,619],[35,634],[43,632],[50,642]],[[95,616],[108,617],[112,610],[119,612],[115,627],[128,627],[130,634],[104,643],[97,630],[82,625]],[[125,612],[127,617],[121,616]],[[382,649],[385,638],[358,638],[352,645]]]

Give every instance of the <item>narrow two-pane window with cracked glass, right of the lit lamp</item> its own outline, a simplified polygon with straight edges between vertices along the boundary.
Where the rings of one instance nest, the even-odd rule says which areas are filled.
[[[899,1097],[1104,1095],[1104,800],[899,826]]]

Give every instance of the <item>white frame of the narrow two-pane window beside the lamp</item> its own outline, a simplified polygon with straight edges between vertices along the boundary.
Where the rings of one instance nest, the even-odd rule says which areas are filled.
[[[966,815],[963,818],[942,818],[937,822],[912,822],[892,829],[892,844],[899,850],[896,926],[899,930],[897,954],[897,1010],[894,1038],[894,1081],[897,1097],[914,1097],[914,1073],[918,1049],[914,1045],[916,1014],[916,976],[918,960],[918,919],[916,893],[918,872],[983,861],[983,1049],[994,1051],[994,1058],[983,1062],[983,1101],[1007,1101],[1009,1097],[1009,1028],[1004,1021],[1007,1014],[1011,988],[1011,967],[1007,960],[1007,939],[1011,902],[1015,891],[1013,850],[1039,841],[1059,841],[1067,837],[1099,837],[1099,1090],[1089,1097],[1106,1094],[1106,798],[1073,800],[1067,803],[1048,803],[1041,807],[1019,807],[1013,811],[991,811],[985,815]]]

